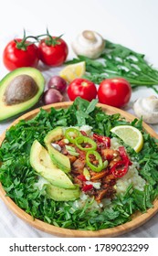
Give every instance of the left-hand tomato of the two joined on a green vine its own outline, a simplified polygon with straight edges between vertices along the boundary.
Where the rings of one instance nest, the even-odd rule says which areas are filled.
[[[3,60],[6,69],[14,70],[22,67],[37,67],[37,46],[25,41],[24,45],[20,48],[22,39],[10,41],[4,50]],[[29,45],[27,45],[29,44]]]

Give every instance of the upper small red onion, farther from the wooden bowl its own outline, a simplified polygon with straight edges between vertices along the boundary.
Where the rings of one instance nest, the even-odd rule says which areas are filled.
[[[54,76],[48,81],[47,88],[53,88],[63,93],[64,91],[66,91],[67,82],[59,76]]]

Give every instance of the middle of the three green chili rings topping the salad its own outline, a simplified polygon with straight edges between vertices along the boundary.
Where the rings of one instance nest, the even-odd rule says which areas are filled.
[[[86,136],[76,137],[75,144],[79,147],[80,150],[83,150],[83,151],[96,150],[97,148],[97,144],[93,140],[91,140],[89,137],[86,137]],[[82,144],[85,144],[85,146],[82,146]],[[87,144],[88,144],[88,147],[86,147]]]

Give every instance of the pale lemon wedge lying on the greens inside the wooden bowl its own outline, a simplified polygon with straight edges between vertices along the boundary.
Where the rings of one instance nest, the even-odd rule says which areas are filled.
[[[135,152],[140,152],[143,146],[142,133],[135,127],[130,125],[119,125],[111,129],[111,133],[115,133],[121,140],[130,145]]]

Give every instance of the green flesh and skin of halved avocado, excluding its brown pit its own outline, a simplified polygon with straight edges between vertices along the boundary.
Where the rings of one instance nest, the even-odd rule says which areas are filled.
[[[4,101],[5,90],[11,80],[16,76],[28,75],[32,77],[37,83],[37,93],[34,97],[28,101],[17,103],[14,105],[6,105]],[[22,112],[26,112],[31,109],[39,101],[43,91],[45,89],[45,79],[42,73],[35,68],[19,68],[9,72],[3,80],[0,81],[0,123],[5,122],[8,119],[18,116]]]

